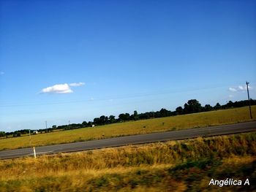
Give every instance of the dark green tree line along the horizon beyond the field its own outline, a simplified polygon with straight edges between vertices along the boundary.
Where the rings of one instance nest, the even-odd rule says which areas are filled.
[[[251,105],[256,105],[255,99],[250,99]],[[62,130],[69,130],[69,129],[75,129],[75,128],[83,128],[83,127],[91,127],[91,126],[102,126],[110,123],[121,123],[126,122],[129,120],[145,120],[150,118],[164,118],[164,117],[170,117],[175,115],[185,115],[189,113],[195,113],[195,112],[208,112],[212,110],[225,110],[232,107],[245,107],[249,105],[248,100],[244,101],[228,101],[227,104],[219,104],[217,103],[214,107],[210,104],[206,104],[205,106],[202,106],[197,99],[190,99],[187,101],[187,103],[184,104],[184,107],[177,107],[175,111],[166,110],[165,108],[162,108],[159,111],[152,111],[152,112],[142,112],[138,113],[136,110],[133,112],[132,115],[129,113],[121,113],[118,115],[118,118],[114,115],[105,116],[102,115],[99,118],[94,118],[93,121],[83,121],[83,123],[72,123],[69,125],[62,125],[62,126],[52,126],[51,128],[42,128],[38,131],[40,133],[48,133],[54,130],[62,129]],[[0,131],[0,137],[8,137],[12,135],[12,137],[20,137],[21,134],[29,134],[29,129],[22,129],[19,131],[13,131],[13,132],[7,132]]]

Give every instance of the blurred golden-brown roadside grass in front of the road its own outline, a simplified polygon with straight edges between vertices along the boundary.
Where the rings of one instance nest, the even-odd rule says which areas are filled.
[[[256,133],[3,160],[0,170],[0,191],[255,191]]]

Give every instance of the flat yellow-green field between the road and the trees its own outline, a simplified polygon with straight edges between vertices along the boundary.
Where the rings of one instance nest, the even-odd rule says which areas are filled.
[[[252,106],[252,117],[256,120],[256,106]],[[52,145],[67,142],[79,142],[92,139],[120,137],[132,134],[146,134],[159,131],[173,131],[184,128],[217,126],[228,123],[245,122],[249,119],[248,107],[230,110],[200,112],[167,118],[114,123],[94,128],[80,128],[69,131],[56,131],[48,134],[32,135],[32,145]],[[29,136],[0,139],[0,150],[30,147]]]

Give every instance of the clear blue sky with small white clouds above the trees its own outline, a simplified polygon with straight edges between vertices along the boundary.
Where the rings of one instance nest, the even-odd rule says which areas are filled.
[[[256,1],[0,1],[0,131],[256,99]],[[240,87],[239,87],[240,86]]]

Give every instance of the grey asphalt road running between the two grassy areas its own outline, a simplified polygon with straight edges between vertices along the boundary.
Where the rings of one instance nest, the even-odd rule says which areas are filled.
[[[86,142],[72,142],[61,145],[48,145],[36,147],[37,155],[66,153],[80,150],[93,150],[104,147],[118,147],[122,145],[134,145],[148,142],[163,142],[167,140],[189,139],[195,137],[208,137],[222,134],[238,134],[242,132],[256,131],[256,121],[248,123],[236,123],[225,126],[211,126],[206,128],[190,128],[180,131],[167,131],[154,134],[141,134],[111,139],[100,139]],[[34,155],[33,149],[23,148],[18,150],[0,151],[0,159],[18,158]]]

